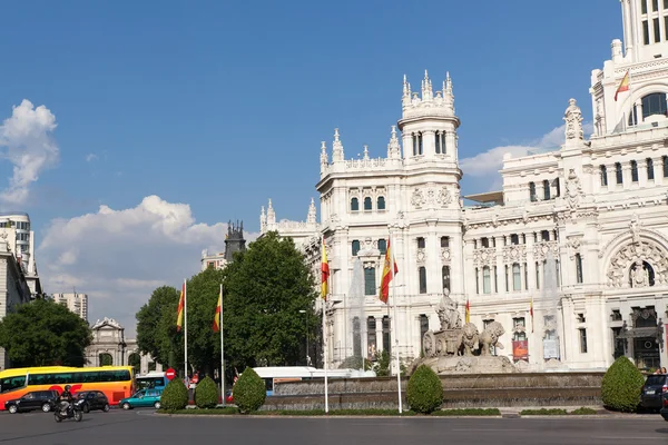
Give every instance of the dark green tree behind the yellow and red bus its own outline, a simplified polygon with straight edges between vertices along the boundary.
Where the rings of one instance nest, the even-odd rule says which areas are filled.
[[[13,367],[84,366],[91,340],[81,317],[49,299],[21,305],[0,322],[0,346]]]

